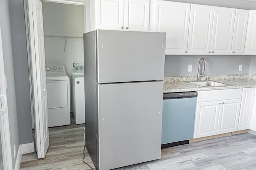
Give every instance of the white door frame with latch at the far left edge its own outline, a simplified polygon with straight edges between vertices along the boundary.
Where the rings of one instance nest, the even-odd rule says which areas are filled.
[[[2,139],[2,154],[4,170],[12,170],[12,150],[10,142],[10,128],[9,128],[9,117],[8,117],[8,105],[6,95],[6,78],[4,73],[4,54],[2,47],[2,36],[0,26],[0,95],[1,101],[4,105],[4,112],[0,111],[0,123],[1,123],[1,139]]]

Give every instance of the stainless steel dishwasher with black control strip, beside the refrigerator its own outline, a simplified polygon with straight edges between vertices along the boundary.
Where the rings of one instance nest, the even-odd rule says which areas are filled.
[[[189,143],[193,138],[198,93],[164,93],[162,148]]]

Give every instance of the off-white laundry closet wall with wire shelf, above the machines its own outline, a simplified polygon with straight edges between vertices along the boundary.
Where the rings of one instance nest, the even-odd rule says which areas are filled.
[[[82,38],[49,38],[47,36],[83,37],[84,6],[43,2],[44,48],[46,64],[63,64],[70,76],[73,62],[84,61]]]

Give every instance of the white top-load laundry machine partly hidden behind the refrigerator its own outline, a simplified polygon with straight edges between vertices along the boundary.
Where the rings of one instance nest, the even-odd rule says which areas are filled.
[[[76,124],[85,123],[84,66],[72,70],[72,114]]]

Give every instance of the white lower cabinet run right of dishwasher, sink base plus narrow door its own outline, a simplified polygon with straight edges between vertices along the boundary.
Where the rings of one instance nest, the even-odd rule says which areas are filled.
[[[198,91],[194,138],[248,129],[254,92],[255,88]]]

